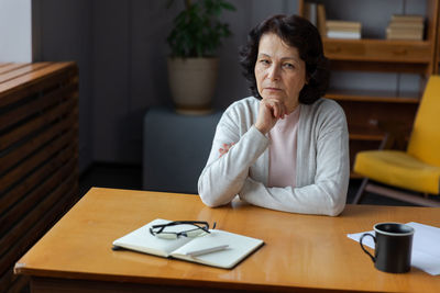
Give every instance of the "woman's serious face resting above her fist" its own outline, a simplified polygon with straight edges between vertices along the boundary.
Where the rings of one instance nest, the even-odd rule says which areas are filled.
[[[306,83],[306,63],[299,58],[298,49],[274,33],[262,35],[254,72],[260,95],[279,100],[292,113]]]

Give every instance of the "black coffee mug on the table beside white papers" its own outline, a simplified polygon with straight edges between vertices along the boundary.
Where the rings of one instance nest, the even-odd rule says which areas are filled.
[[[374,225],[374,230],[376,236],[365,233],[359,241],[362,250],[373,260],[374,267],[384,272],[408,272],[411,266],[414,228],[399,223],[380,223]],[[374,239],[374,257],[362,244],[366,236]]]

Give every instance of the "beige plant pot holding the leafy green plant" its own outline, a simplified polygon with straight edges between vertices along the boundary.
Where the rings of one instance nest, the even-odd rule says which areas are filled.
[[[217,58],[168,58],[168,79],[176,111],[211,112],[218,74]]]

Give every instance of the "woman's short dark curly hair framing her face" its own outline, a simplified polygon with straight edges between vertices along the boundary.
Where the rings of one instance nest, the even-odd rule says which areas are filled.
[[[287,45],[296,47],[306,63],[307,84],[299,92],[299,103],[311,104],[322,97],[329,87],[329,61],[323,56],[322,41],[318,30],[298,15],[274,15],[256,25],[248,35],[246,45],[240,49],[243,75],[250,82],[255,98],[262,99],[256,87],[254,67],[263,34],[275,33]]]

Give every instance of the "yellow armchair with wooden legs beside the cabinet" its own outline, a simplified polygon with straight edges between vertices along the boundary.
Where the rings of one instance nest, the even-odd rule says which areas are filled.
[[[364,191],[370,191],[418,205],[440,206],[440,201],[427,196],[440,192],[440,76],[428,80],[407,150],[360,151],[354,171],[364,177],[354,204]]]

